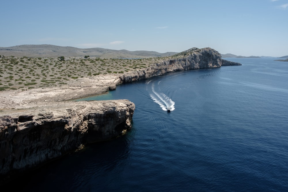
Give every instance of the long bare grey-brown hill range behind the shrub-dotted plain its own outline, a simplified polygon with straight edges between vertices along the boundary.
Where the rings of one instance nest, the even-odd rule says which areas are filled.
[[[56,45],[17,45],[0,47],[0,55],[16,57],[102,57],[102,58],[150,58],[165,57],[177,52],[158,53],[155,51],[111,50],[104,48],[80,49],[76,47],[62,47]]]

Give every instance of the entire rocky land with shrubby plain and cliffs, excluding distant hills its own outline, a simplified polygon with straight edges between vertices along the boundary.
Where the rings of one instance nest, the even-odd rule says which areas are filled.
[[[2,56],[0,62],[0,184],[131,128],[135,105],[128,100],[71,99],[173,71],[241,65],[211,48],[133,60]]]

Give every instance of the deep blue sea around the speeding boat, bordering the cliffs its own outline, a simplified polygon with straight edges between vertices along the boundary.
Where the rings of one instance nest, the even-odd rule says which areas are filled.
[[[242,66],[168,73],[88,98],[134,102],[130,132],[40,168],[20,188],[287,191],[288,62],[227,60]]]

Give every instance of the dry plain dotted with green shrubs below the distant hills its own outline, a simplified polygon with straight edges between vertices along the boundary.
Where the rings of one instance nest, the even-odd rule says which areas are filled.
[[[162,58],[107,59],[88,57],[59,58],[0,58],[0,90],[28,90],[61,87],[80,77],[103,74],[120,75],[145,69]]]

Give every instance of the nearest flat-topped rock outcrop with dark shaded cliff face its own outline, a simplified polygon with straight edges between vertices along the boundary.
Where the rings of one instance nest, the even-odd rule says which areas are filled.
[[[0,184],[92,142],[131,128],[135,105],[128,100],[56,102],[6,110],[0,117]]]

